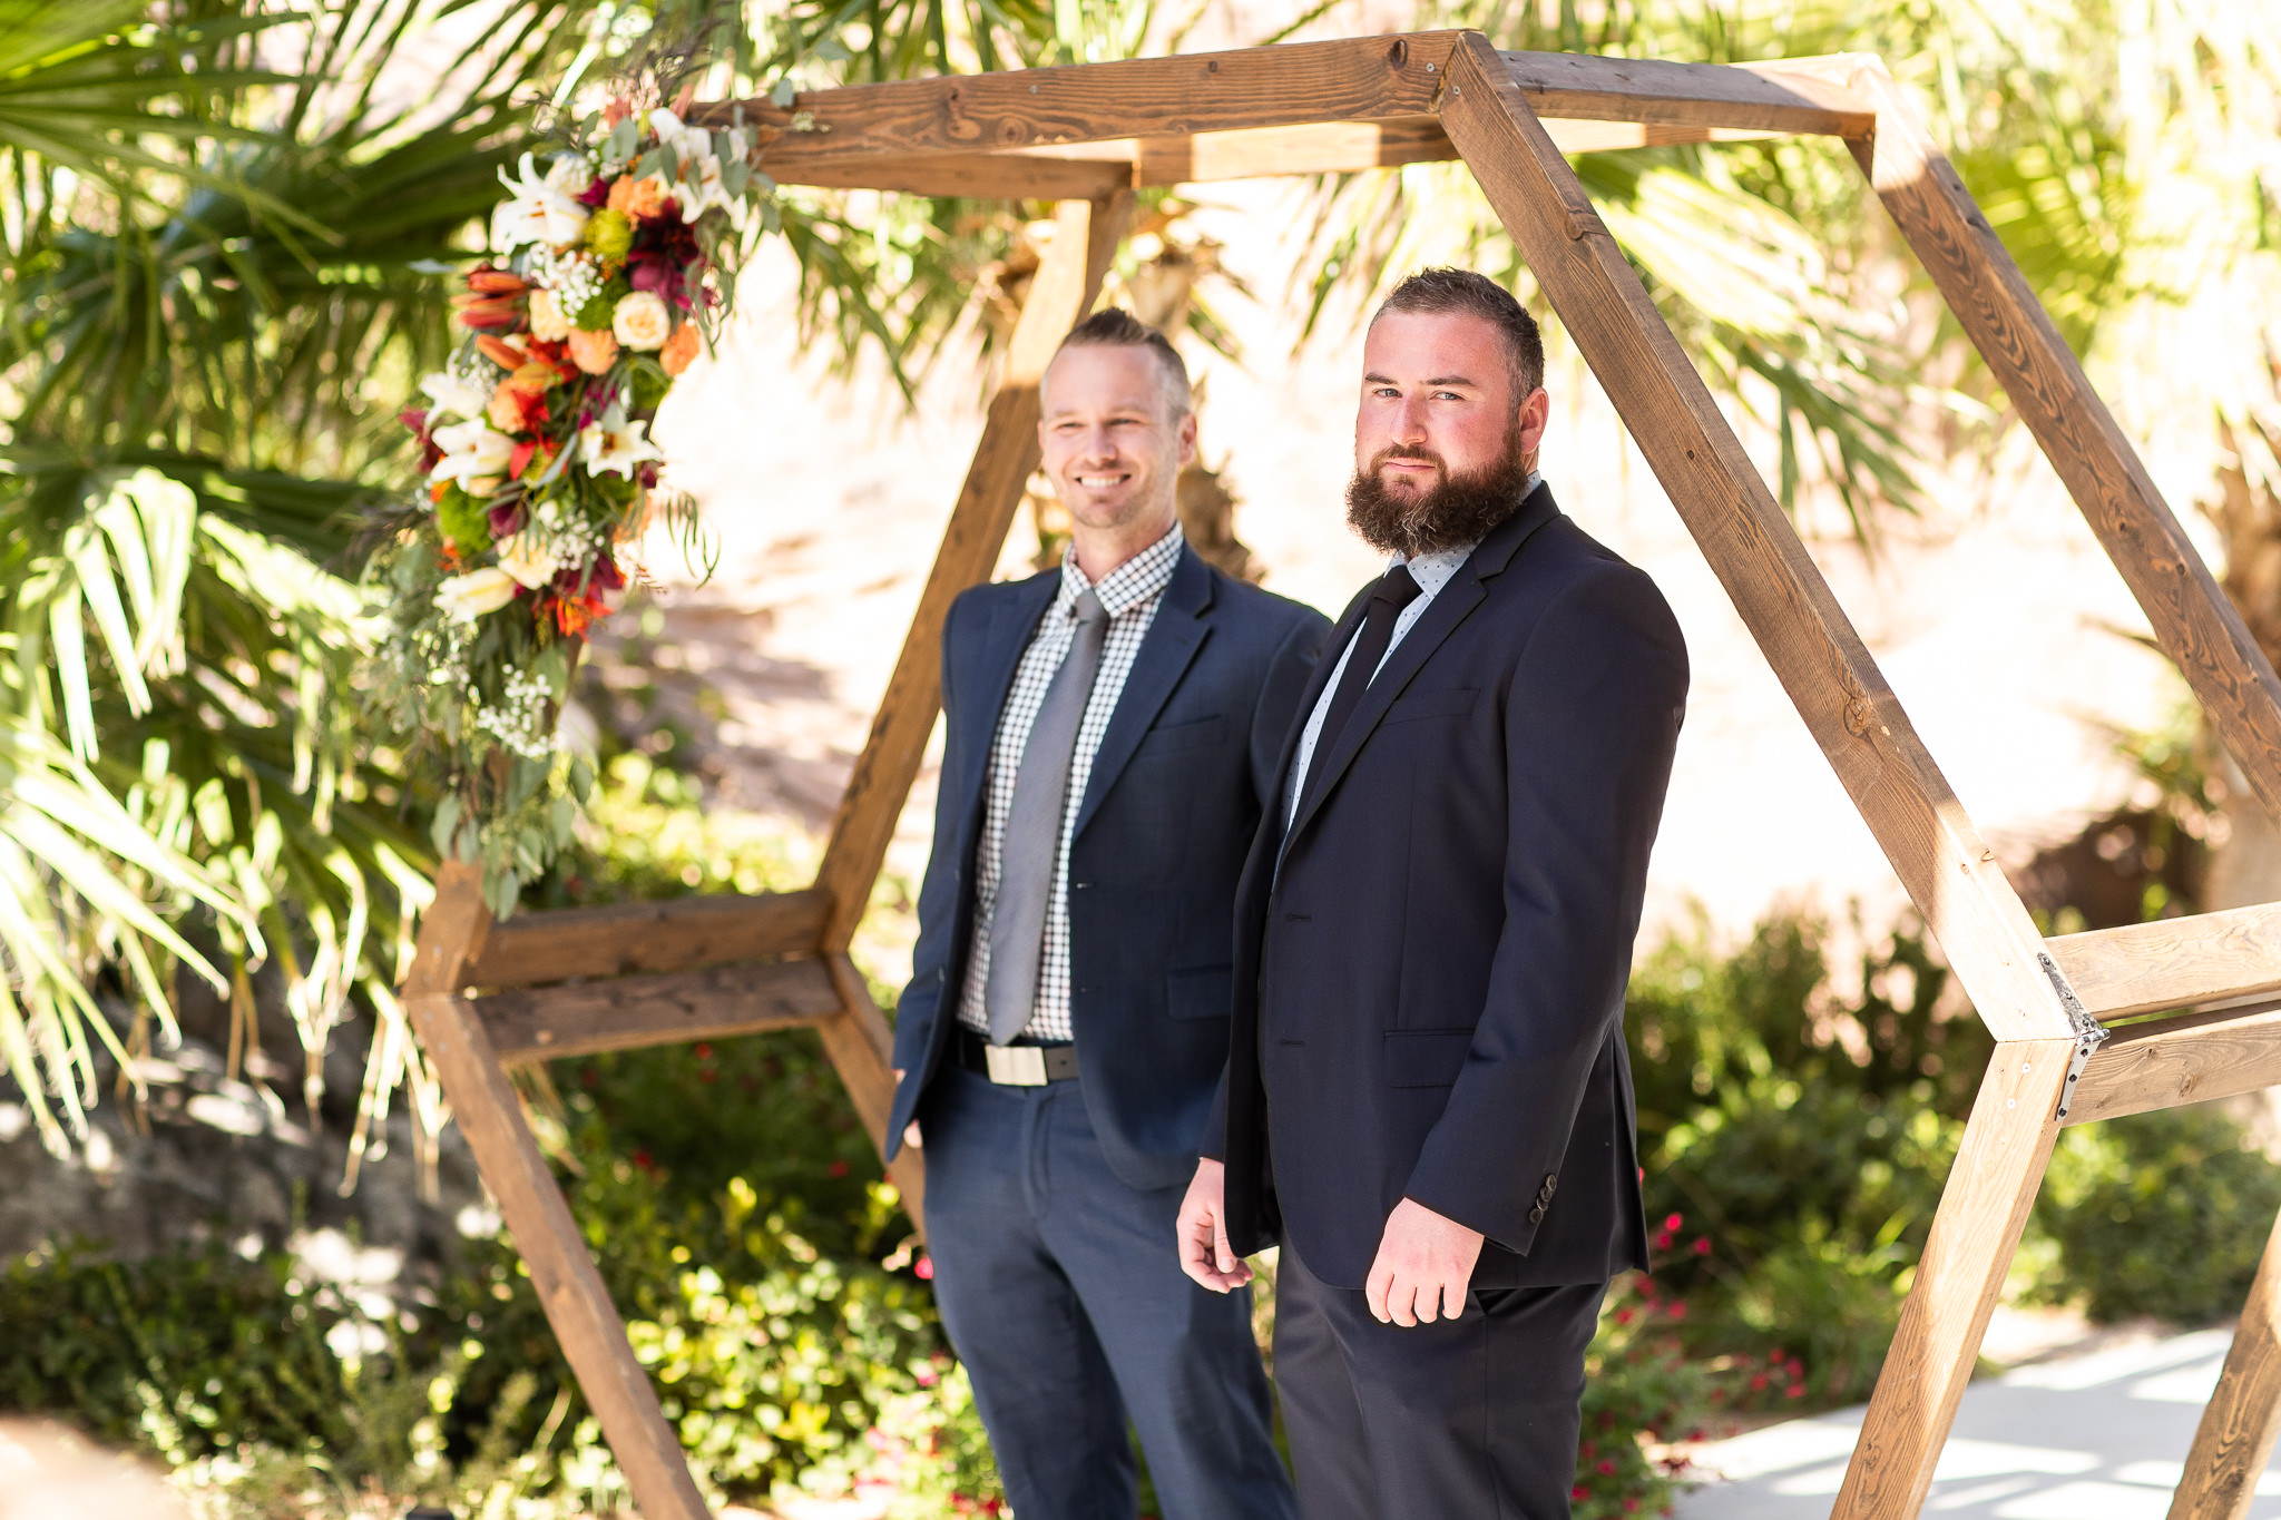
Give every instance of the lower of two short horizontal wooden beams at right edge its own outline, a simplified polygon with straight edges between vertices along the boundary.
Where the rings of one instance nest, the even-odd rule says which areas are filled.
[[[2146,1114],[2281,1085],[2281,1003],[2114,1030],[2083,1064],[2067,1123]]]

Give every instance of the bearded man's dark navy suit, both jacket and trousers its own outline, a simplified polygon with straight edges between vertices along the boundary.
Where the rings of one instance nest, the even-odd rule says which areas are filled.
[[[1359,620],[1362,599],[1302,716]],[[1309,1520],[1567,1513],[1599,1288],[1647,1265],[1624,982],[1686,690],[1663,595],[1540,485],[1316,750],[1291,827],[1277,809],[1255,843],[1207,1153],[1236,1251],[1280,1235],[1286,1276],[1302,1262],[1277,1381]],[[1405,1196],[1485,1235],[1455,1326],[1359,1310]],[[1341,1374],[1355,1390],[1293,1390]],[[1451,1408],[1451,1388],[1480,1392]],[[1501,1463],[1512,1443],[1531,1458]],[[1375,1502],[1309,1484],[1309,1452],[1318,1470],[1366,1452]]]

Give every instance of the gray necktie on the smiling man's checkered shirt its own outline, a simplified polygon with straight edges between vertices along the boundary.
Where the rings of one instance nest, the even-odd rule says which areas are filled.
[[[1061,859],[1061,809],[1070,791],[1070,752],[1086,720],[1093,675],[1102,668],[1109,613],[1090,590],[1077,597],[1077,638],[1045,688],[1038,720],[1013,773],[1013,807],[999,848],[999,891],[990,909],[990,980],[983,1012],[990,1044],[1001,1046],[1029,1025],[1038,1007],[1038,959],[1045,953],[1045,907],[1054,896]]]

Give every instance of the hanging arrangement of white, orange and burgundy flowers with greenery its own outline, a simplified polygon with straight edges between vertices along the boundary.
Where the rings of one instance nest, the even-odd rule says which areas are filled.
[[[746,153],[741,114],[707,132],[625,100],[543,169],[525,153],[452,299],[463,342],[420,381],[427,406],[401,412],[424,490],[374,556],[374,700],[440,750],[436,845],[484,866],[502,916],[591,786],[557,745],[579,640],[620,599],[652,520],[691,529],[693,504],[659,488],[650,426],[728,312],[773,189]]]

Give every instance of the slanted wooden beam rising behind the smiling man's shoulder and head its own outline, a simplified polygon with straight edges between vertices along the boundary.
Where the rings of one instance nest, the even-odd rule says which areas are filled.
[[[885,87],[880,87],[885,89]],[[1047,244],[1029,299],[1015,321],[1006,374],[983,417],[958,506],[935,551],[935,567],[919,593],[903,652],[887,677],[887,695],[871,720],[871,736],[855,759],[817,886],[830,898],[830,914],[817,948],[846,950],[855,925],[871,905],[871,884],[887,859],[896,818],[926,757],[926,736],[942,706],[942,620],[965,588],[990,577],[1006,529],[1013,526],[1022,490],[1038,469],[1038,378],[1063,335],[1093,310],[1102,276],[1125,232],[1131,194],[1111,201],[1063,201],[1054,242]]]

